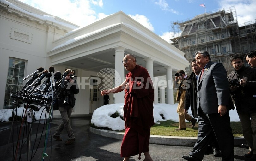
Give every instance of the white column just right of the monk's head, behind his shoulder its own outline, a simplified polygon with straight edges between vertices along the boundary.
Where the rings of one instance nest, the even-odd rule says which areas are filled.
[[[157,104],[158,103],[158,88],[157,88],[157,81],[155,78],[154,78],[154,70],[153,70],[153,62],[154,60],[151,59],[151,58],[145,58],[143,59],[145,62],[146,62],[146,69],[148,70],[149,72],[149,75],[153,81],[153,85],[154,85],[154,104]]]

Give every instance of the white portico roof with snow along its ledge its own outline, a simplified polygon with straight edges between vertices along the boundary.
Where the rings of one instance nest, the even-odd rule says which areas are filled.
[[[125,54],[136,55],[139,65],[145,66],[145,58],[153,59],[154,76],[166,75],[165,67],[179,70],[189,66],[182,51],[122,11],[67,33],[53,46],[47,52],[52,65],[69,63],[96,72],[115,68],[115,48],[119,46],[125,48]]]

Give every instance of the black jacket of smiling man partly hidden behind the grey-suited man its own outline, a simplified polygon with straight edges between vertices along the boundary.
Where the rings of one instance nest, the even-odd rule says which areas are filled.
[[[191,112],[193,117],[198,117],[197,115],[197,80],[194,72],[191,73],[190,77],[186,82],[188,85],[185,93],[184,109],[189,110],[191,106]]]

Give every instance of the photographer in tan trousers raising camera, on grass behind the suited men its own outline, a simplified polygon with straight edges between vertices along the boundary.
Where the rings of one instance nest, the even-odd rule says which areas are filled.
[[[185,93],[186,93],[186,88],[188,88],[185,81],[187,80],[187,78],[188,76],[185,74],[184,70],[179,70],[177,73],[175,73],[175,80],[173,82],[173,85],[174,85],[174,89],[177,88],[176,101],[179,101],[179,104],[177,107],[177,113],[179,115],[179,128],[176,128],[175,130],[186,130],[185,119],[187,121],[192,122],[192,128],[194,128],[197,122],[197,119],[193,118],[188,113],[184,112]]]

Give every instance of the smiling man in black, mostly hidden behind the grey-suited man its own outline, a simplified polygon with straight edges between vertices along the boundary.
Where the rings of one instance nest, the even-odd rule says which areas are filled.
[[[197,65],[196,59],[193,59],[191,62],[191,68],[193,72],[187,79],[187,87],[185,93],[184,101],[184,113],[188,113],[189,107],[191,107],[191,112],[194,118],[198,117],[197,115],[197,80],[198,75],[201,72],[201,68]],[[200,119],[200,118],[199,118]],[[199,120],[199,122],[202,120]],[[214,134],[212,134],[212,141],[207,147],[206,154],[212,153],[215,157],[221,157],[219,150],[219,145]]]

